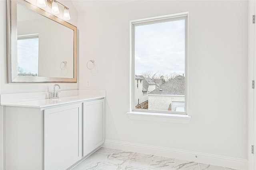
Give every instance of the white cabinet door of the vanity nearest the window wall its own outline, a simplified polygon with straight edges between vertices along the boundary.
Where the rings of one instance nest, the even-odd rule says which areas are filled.
[[[105,100],[83,103],[83,156],[105,141]]]

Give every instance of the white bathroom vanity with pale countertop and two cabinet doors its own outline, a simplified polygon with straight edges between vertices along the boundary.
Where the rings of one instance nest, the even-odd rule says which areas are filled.
[[[64,170],[104,143],[104,92],[73,91],[77,95],[20,102],[3,102],[1,95],[6,170]]]

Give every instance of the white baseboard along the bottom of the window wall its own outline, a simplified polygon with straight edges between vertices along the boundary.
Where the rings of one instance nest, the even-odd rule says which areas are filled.
[[[220,155],[214,155],[214,154],[206,154],[206,153],[194,152],[189,150],[157,147],[152,145],[143,145],[138,143],[113,141],[108,139],[105,140],[103,147],[119,149],[119,150],[127,150],[127,151],[139,152],[139,153],[145,153],[145,154],[154,154],[154,155],[165,156],[169,158],[189,160],[189,161],[200,162],[204,164],[211,164],[216,166],[223,166],[223,167],[234,168],[239,170],[248,170],[247,159],[233,158],[233,157],[220,156]]]

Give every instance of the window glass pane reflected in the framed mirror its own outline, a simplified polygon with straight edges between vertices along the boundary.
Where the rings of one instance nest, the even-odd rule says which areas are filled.
[[[17,47],[18,76],[38,76],[39,38],[20,38]]]

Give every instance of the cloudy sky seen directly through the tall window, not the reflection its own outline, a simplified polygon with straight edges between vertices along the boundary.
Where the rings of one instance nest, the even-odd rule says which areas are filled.
[[[135,27],[135,74],[185,74],[185,20]]]

